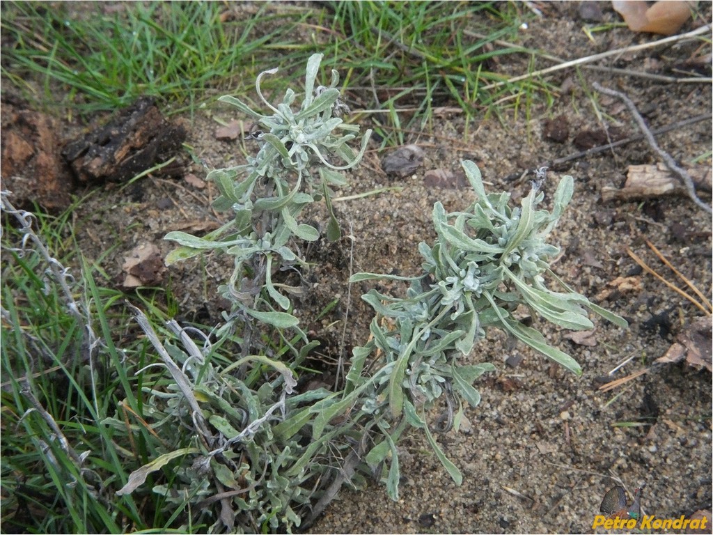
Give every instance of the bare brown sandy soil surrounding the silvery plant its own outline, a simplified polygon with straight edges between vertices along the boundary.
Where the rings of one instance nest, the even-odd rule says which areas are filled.
[[[606,15],[613,19],[610,11]],[[701,24],[690,22],[686,28]],[[555,56],[576,58],[656,39],[617,28],[596,34],[592,42],[582,26],[576,4],[569,4],[530,24],[523,41]],[[694,55],[698,46],[700,42],[687,41],[599,64],[668,74]],[[501,65],[503,72],[525,72],[527,58],[520,63],[508,61]],[[512,177],[578,152],[573,145],[576,134],[602,126],[616,126],[624,136],[637,133],[630,113],[613,98],[597,98],[602,113],[597,117],[590,93],[594,81],[627,93],[652,128],[710,113],[712,105],[711,87],[705,83],[663,83],[597,71],[560,71],[549,80],[555,87],[566,81],[551,107],[534,103],[529,113],[522,108],[517,117],[478,117],[467,133],[463,116],[438,115],[433,131],[406,134],[409,143],[425,152],[421,168],[406,178],[386,176],[380,160],[387,151],[376,150],[374,144],[359,170],[349,175],[349,187],[337,196],[384,186],[402,189],[335,203],[342,228],[354,237],[353,250],[352,241],[344,238],[331,245],[319,242],[309,251],[309,260],[315,263],[312,280],[319,284],[299,302],[296,315],[324,342],[324,355],[339,352],[347,307],[345,352],[349,354],[352,345],[363,343],[368,335],[371,314],[358,297],[371,286],[356,285],[347,302],[350,265],[354,271],[416,273],[419,241],[434,238],[433,203],[441,200],[446,210],[457,210],[471,202],[473,193],[458,183],[430,185],[424,180],[428,171],[457,175],[459,161],[471,159],[480,166],[490,190],[509,190],[519,199],[527,193],[528,182]],[[239,118],[227,107],[216,106],[212,113],[225,121]],[[559,116],[566,118],[569,135],[563,143],[548,141],[546,122]],[[188,143],[198,157],[215,167],[244,161],[240,141],[215,140],[218,125],[210,116],[198,113],[192,122],[186,121]],[[356,121],[369,127],[366,116],[356,116]],[[702,121],[665,133],[657,141],[681,163],[703,155],[701,163],[710,165],[711,137],[711,122]],[[245,149],[254,147],[246,142]],[[592,531],[605,491],[619,479],[629,491],[645,482],[642,507],[647,514],[676,517],[711,509],[711,374],[684,364],[652,367],[702,312],[642,272],[627,254],[627,248],[634,251],[674,281],[672,272],[645,244],[650,240],[679,272],[710,295],[711,218],[681,196],[601,200],[602,188],[622,185],[630,165],[657,161],[645,141],[628,143],[550,172],[545,186],[552,192],[561,175],[575,178],[573,202],[553,238],[563,247],[555,272],[579,292],[626,317],[630,328],[621,330],[595,320],[591,345],[578,345],[567,339],[566,332],[537,321],[550,343],[581,363],[584,374],[579,379],[535,352],[513,346],[502,333],[491,332],[471,360],[493,362],[498,371],[476,385],[483,401],[466,411],[470,429],[438,436],[443,450],[463,472],[463,485],[453,484],[425,437],[414,433],[401,444],[398,502],[390,501],[377,482],[365,491],[344,489],[312,532],[586,533]],[[205,176],[198,165],[190,173]],[[148,177],[129,188],[108,188],[78,206],[78,239],[88,259],[101,265],[116,283],[123,259],[135,245],[155,243],[165,254],[172,247],[162,241],[169,230],[191,231],[225,218],[208,208],[214,195],[212,185],[198,187],[183,178]],[[710,193],[702,197],[710,200]],[[312,215],[320,220],[324,211]],[[178,297],[180,316],[206,325],[217,322],[222,304],[212,295],[230,267],[229,260],[220,258],[171,267],[166,284]],[[633,277],[635,284],[606,297],[602,290],[617,277]],[[391,289],[400,291],[397,285]],[[339,306],[310,323],[309,318],[335,297],[340,298]],[[513,357],[522,357],[515,367],[506,364]],[[630,363],[607,375],[629,357],[633,357]],[[649,371],[610,392],[598,390],[604,382],[641,370]]]

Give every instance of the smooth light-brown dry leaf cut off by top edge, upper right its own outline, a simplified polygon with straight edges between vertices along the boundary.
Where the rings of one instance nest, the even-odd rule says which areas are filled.
[[[640,0],[615,0],[612,7],[632,31],[673,35],[691,16],[697,1],[658,1],[649,7]]]

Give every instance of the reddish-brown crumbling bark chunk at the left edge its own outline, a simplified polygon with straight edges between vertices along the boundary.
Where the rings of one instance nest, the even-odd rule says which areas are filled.
[[[56,121],[44,113],[2,106],[2,188],[13,203],[61,211],[71,203],[72,175],[60,155]]]

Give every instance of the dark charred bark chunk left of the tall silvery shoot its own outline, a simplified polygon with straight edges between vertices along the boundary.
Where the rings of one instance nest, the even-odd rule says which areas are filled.
[[[185,140],[180,123],[165,120],[154,99],[139,98],[106,126],[62,151],[81,183],[123,182],[170,159]]]

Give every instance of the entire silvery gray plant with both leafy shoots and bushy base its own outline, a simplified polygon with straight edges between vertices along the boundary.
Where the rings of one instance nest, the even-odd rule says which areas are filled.
[[[463,401],[471,407],[480,402],[474,383],[495,367],[487,354],[478,364],[468,359],[488,327],[499,327],[580,373],[572,358],[547,345],[538,330],[519,322],[515,309],[525,305],[533,315],[574,330],[592,327],[587,310],[626,325],[573,292],[549,268],[559,249],[546,238],[570,200],[573,179],[560,181],[551,213],[538,209],[543,200],[539,180],[520,207],[511,208],[510,194],[487,194],[478,168],[465,161],[477,200],[456,213],[446,213],[436,203],[437,238],[433,245],[419,245],[422,272],[414,277],[351,277],[350,283],[387,278],[410,285],[404,297],[376,290],[363,296],[377,314],[369,342],[354,347],[344,384],[334,391],[294,391],[300,365],[317,342],[307,339],[291,313],[285,293],[298,294],[299,288],[272,277],[277,270],[306,265],[300,244],[319,238],[316,228],[299,222],[309,203],[324,198],[327,238],[339,238],[330,186],[344,183],[341,171],[356,165],[370,134],[367,131],[361,139],[358,153],[349,148],[359,127],[342,121],[348,108],[336,88],[336,72],[329,87],[315,87],[321,58],[309,58],[298,109],[292,108],[297,97],[292,90],[277,106],[262,95],[262,77],[275,70],[261,73],[256,82],[257,94],[272,114],[257,113],[232,96],[220,99],[255,121],[251,137],[259,151],[245,165],[208,174],[220,190],[214,207],[232,210],[225,225],[203,238],[166,235],[181,246],[169,255],[168,263],[209,250],[234,259],[232,276],[220,287],[232,303],[225,327],[217,331],[220,342],[211,346],[206,341],[199,350],[172,324],[170,330],[185,349],[168,342],[161,345],[137,312],[172,376],[144,387],[148,412],[171,422],[173,433],[166,440],[170,447],[135,470],[120,492],[139,491],[147,474],[185,458],[173,470],[171,484],[156,485],[153,491],[177,508],[190,503],[190,521],[202,521],[210,532],[304,527],[303,519],[314,520],[342,484],[363,488],[365,478],[372,475],[382,477],[389,496],[397,499],[396,444],[408,427],[424,430],[436,456],[460,484],[458,467],[443,454],[431,429],[457,429]],[[545,277],[563,291],[550,290]],[[382,325],[379,317],[391,321]],[[279,335],[267,343],[277,340],[282,347],[275,350],[264,338],[252,336],[266,327]],[[242,352],[227,365],[225,357],[217,357],[226,340],[237,342]],[[444,400],[443,417],[429,426],[426,409]],[[121,429],[119,419],[111,423]]]

